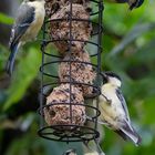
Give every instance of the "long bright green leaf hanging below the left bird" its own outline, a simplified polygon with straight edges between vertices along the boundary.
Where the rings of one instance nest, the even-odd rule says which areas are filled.
[[[39,72],[41,52],[37,49],[30,49],[28,55],[23,58],[18,65],[18,72],[14,74],[11,86],[8,90],[9,95],[3,110],[8,110],[22,99]]]

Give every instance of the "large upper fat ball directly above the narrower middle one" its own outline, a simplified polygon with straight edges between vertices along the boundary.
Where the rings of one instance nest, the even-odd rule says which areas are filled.
[[[72,21],[70,21],[71,18]],[[49,27],[50,38],[60,53],[64,54],[69,50],[76,51],[84,48],[92,31],[92,24],[89,19],[90,14],[82,4],[72,4],[72,12],[70,12],[70,4],[64,6],[51,17],[51,20],[54,21],[51,21]]]

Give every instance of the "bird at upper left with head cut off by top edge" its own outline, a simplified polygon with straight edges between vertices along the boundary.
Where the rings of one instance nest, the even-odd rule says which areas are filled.
[[[37,38],[45,16],[44,3],[44,0],[23,0],[18,9],[9,42],[11,51],[7,63],[9,74],[12,73],[19,46]]]

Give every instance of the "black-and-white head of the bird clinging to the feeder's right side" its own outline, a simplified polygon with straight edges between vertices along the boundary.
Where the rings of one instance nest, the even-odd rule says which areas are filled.
[[[121,78],[114,72],[103,72],[103,82],[111,83],[117,87],[121,87],[122,80]]]

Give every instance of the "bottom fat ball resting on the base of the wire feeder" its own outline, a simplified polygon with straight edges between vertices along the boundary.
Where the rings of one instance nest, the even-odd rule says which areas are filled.
[[[72,105],[72,122],[70,102]],[[45,122],[48,125],[62,125],[62,128],[64,130],[71,130],[72,127],[63,127],[63,125],[84,125],[85,107],[83,104],[84,99],[80,89],[71,85],[70,91],[70,84],[61,84],[60,86],[54,87],[52,93],[46,97],[46,107],[44,107]]]

